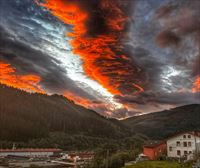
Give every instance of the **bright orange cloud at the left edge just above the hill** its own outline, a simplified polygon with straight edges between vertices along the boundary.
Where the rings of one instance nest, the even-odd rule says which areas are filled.
[[[0,62],[0,83],[28,92],[45,93],[38,85],[41,81],[37,75],[17,75],[16,70],[7,63]]]

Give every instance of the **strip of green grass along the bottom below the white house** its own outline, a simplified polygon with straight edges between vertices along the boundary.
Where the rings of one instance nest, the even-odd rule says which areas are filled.
[[[168,161],[144,161],[124,168],[192,168],[192,164],[179,164],[177,162]]]

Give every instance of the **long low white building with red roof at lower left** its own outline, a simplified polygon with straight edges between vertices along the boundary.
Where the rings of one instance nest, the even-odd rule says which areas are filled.
[[[0,157],[50,157],[60,153],[60,149],[0,149]]]

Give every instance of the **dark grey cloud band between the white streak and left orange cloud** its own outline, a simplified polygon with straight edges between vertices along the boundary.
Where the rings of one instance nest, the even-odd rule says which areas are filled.
[[[66,76],[67,72],[58,66],[57,60],[30,45],[11,40],[11,37],[6,34],[7,32],[0,27],[0,60],[14,66],[18,74],[39,75],[42,79],[40,84],[49,93],[62,94],[68,90],[83,97],[94,99]],[[58,64],[55,64],[55,62]]]

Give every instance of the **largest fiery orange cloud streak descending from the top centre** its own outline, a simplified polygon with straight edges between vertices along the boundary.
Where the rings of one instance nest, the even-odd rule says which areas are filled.
[[[87,3],[87,2],[86,2]],[[102,0],[99,10],[103,11],[103,25],[107,32],[90,34],[95,24],[88,25],[92,13],[79,0],[46,0],[38,5],[46,7],[65,24],[73,25],[71,45],[73,53],[83,60],[85,73],[100,83],[112,94],[135,93],[144,89],[136,82],[138,68],[123,53],[121,41],[124,38],[127,16],[117,0]],[[94,11],[95,9],[92,9]],[[93,16],[94,17],[94,16]],[[93,18],[93,20],[95,20]],[[96,20],[96,24],[98,20]],[[102,25],[101,25],[102,26]],[[97,28],[96,31],[101,28]]]

